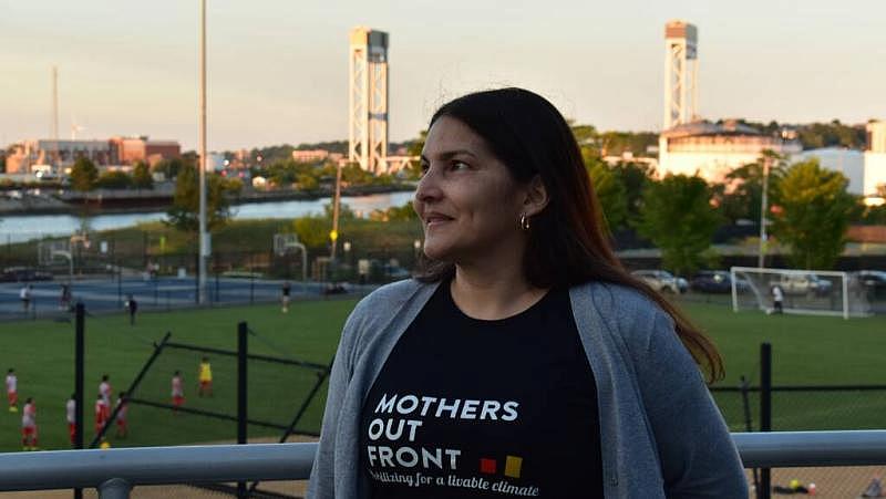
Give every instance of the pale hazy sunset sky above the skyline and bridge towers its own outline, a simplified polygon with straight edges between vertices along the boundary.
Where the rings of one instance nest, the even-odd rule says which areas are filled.
[[[704,117],[886,118],[884,0],[207,0],[210,150],[348,137],[348,32],[390,34],[390,139],[464,93],[523,86],[600,129],[658,131],[664,23],[699,29]],[[197,145],[198,0],[0,0],[0,144]]]

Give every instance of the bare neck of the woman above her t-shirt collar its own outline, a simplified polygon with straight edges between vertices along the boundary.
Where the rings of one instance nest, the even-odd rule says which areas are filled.
[[[474,319],[492,321],[516,315],[547,292],[533,287],[522,270],[518,267],[477,269],[456,264],[450,284],[452,299],[462,312]]]

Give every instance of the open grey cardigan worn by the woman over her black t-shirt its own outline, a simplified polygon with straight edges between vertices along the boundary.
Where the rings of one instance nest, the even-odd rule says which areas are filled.
[[[369,497],[360,412],[385,358],[437,284],[400,281],[357,304],[344,324],[308,498]],[[597,382],[604,490],[611,498],[748,498],[741,460],[673,322],[639,292],[569,290]]]

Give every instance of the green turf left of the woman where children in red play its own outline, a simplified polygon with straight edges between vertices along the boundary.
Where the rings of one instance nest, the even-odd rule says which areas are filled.
[[[86,371],[84,436],[93,437],[93,404],[102,374],[109,374],[114,393],[125,389],[153,352],[152,341],[172,331],[172,341],[216,349],[236,350],[237,323],[247,321],[256,335],[249,352],[296,357],[328,364],[338,344],[344,319],[353,301],[296,302],[288,314],[275,305],[146,313],[130,326],[124,315],[86,320]],[[52,321],[17,322],[0,325],[0,365],[3,372],[16,367],[19,376],[20,408],[33,396],[38,407],[40,446],[68,448],[64,403],[73,393],[73,324]],[[152,366],[136,392],[140,398],[169,403],[171,380],[181,370],[189,407],[236,415],[236,358],[208,354],[213,364],[212,398],[197,397],[197,366],[200,353],[166,349]],[[317,380],[307,370],[253,361],[249,363],[249,417],[287,425]],[[299,429],[318,432],[326,388],[310,405]],[[90,395],[92,394],[92,395]],[[20,417],[0,409],[0,451],[20,448]],[[166,409],[133,405],[131,435],[125,440],[109,435],[112,445],[176,445],[194,441],[230,440],[236,424]],[[279,436],[282,432],[249,427],[250,436]]]

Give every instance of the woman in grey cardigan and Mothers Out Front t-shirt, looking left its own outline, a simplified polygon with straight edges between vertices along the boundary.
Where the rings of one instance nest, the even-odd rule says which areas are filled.
[[[354,309],[311,498],[746,498],[711,342],[615,258],[571,131],[519,89],[431,119],[427,263]]]

